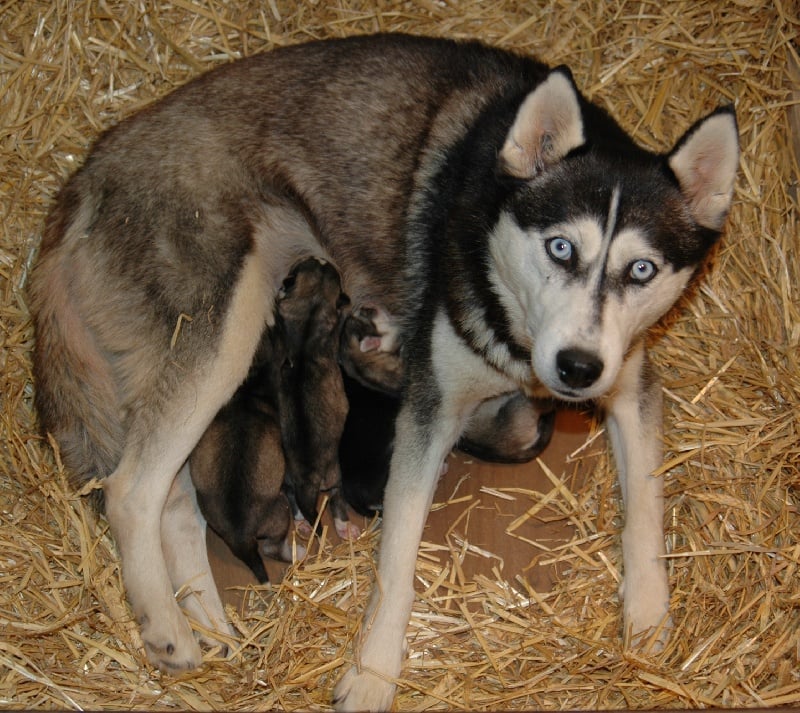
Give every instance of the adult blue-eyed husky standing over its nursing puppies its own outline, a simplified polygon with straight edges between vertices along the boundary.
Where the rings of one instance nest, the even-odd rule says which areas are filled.
[[[397,316],[405,362],[380,581],[338,705],[391,704],[442,460],[502,394],[604,407],[624,625],[662,623],[661,398],[643,338],[718,238],[737,160],[730,109],[654,155],[566,69],[391,35],[234,62],[102,136],[46,225],[36,398],[69,468],[107,476],[150,659],[200,662],[184,583],[189,612],[227,630],[185,463],[312,255],[355,307]]]

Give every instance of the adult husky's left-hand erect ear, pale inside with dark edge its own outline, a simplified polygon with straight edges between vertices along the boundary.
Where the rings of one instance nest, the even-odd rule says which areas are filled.
[[[566,67],[558,67],[527,97],[500,150],[500,168],[533,178],[584,142],[578,91]]]

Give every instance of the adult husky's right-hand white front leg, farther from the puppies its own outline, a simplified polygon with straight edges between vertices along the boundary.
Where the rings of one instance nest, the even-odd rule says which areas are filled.
[[[607,428],[625,506],[620,586],[625,632],[641,642],[648,630],[663,626],[658,647],[665,643],[671,623],[662,557],[664,485],[662,478],[653,476],[663,462],[662,418],[661,383],[640,345],[623,366],[608,402]]]

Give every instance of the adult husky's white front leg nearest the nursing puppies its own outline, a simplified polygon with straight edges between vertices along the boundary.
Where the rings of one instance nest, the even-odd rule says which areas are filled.
[[[420,422],[425,413],[425,422]],[[430,417],[406,403],[397,419],[386,486],[377,581],[364,614],[357,663],[339,682],[340,710],[389,710],[405,653],[414,602],[414,569],[425,520],[442,462],[458,437],[461,420],[442,409]]]

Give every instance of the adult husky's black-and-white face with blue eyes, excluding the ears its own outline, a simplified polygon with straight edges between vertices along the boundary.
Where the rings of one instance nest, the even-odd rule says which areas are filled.
[[[713,242],[663,164],[640,158],[624,173],[607,157],[563,161],[515,196],[492,236],[491,279],[511,332],[560,399],[613,387]]]

